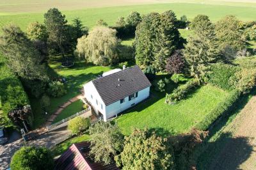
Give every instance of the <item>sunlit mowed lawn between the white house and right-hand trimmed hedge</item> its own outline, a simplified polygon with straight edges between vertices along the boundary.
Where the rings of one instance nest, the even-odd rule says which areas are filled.
[[[175,105],[164,104],[165,98],[153,93],[146,102],[138,104],[116,119],[125,135],[132,128],[153,128],[160,135],[188,132],[201,121],[228,93],[211,85],[202,86]]]

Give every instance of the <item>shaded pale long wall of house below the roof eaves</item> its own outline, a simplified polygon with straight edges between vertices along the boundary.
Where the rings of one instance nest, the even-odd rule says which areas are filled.
[[[145,100],[149,97],[150,94],[150,87],[142,89],[141,91],[138,91],[138,97],[133,98],[129,101],[129,97],[125,97],[125,102],[120,104],[120,100],[114,102],[113,104],[106,106],[106,120],[109,118],[115,116],[116,114],[128,109],[132,106],[132,104],[136,105],[142,100]],[[104,121],[106,121],[104,118]]]

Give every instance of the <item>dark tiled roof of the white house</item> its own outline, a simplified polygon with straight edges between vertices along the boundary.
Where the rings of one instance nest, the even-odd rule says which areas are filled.
[[[132,66],[120,72],[100,77],[92,82],[106,105],[151,86],[139,66]]]

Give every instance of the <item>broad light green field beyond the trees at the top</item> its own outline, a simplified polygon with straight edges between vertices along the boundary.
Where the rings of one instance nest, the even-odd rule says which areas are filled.
[[[198,14],[209,15],[212,21],[219,20],[225,15],[236,15],[241,20],[255,20],[256,16],[255,6],[229,6],[200,3],[143,4],[106,8],[88,8],[84,10],[70,10],[62,12],[66,15],[69,22],[76,17],[79,17],[85,26],[92,28],[99,19],[104,19],[109,26],[113,26],[115,25],[118,17],[127,17],[127,15],[132,11],[145,14],[150,12],[164,12],[166,10],[173,10],[177,17],[186,15],[189,20],[193,19]],[[3,27],[8,23],[13,23],[20,26],[22,30],[26,30],[26,27],[31,22],[43,22],[45,12],[25,13],[19,15],[0,15],[0,27]]]

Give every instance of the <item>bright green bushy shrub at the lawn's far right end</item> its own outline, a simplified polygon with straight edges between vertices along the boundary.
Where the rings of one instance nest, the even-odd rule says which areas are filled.
[[[236,66],[216,63],[211,65],[210,70],[211,72],[207,74],[209,83],[227,91],[234,89],[233,83],[230,80],[239,70]]]

